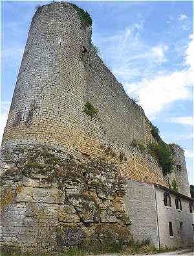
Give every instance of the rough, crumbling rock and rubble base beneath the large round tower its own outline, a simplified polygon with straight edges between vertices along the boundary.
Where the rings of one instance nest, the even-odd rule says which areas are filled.
[[[20,150],[3,160],[3,246],[51,251],[86,239],[102,244],[123,238],[123,233],[130,237],[122,203],[125,183],[116,166],[102,159],[59,157],[43,147]],[[109,225],[110,233],[102,225]]]

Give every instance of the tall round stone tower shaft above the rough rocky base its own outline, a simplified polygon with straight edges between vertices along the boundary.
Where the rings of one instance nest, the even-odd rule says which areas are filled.
[[[1,151],[79,147],[91,26],[73,5],[38,8],[28,34]]]

